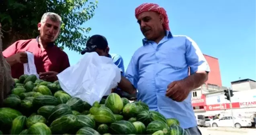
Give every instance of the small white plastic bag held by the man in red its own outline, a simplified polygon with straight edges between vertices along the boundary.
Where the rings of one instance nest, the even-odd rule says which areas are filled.
[[[35,67],[35,61],[34,61],[34,54],[31,52],[27,52],[27,56],[28,56],[28,62],[24,63],[24,74],[26,75],[36,75],[37,79],[39,79],[39,75],[37,74],[37,68]]]

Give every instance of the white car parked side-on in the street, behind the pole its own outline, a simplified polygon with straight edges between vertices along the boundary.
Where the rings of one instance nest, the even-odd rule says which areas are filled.
[[[246,119],[242,119],[239,117],[233,117],[235,127],[251,127],[252,123]],[[210,121],[212,127],[233,127],[233,121],[231,116],[221,117],[220,119],[215,119]]]

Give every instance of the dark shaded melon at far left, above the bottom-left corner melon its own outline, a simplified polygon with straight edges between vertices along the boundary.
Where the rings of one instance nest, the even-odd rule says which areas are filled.
[[[20,99],[16,97],[7,97],[3,101],[4,107],[10,107],[12,109],[18,109],[20,107]]]

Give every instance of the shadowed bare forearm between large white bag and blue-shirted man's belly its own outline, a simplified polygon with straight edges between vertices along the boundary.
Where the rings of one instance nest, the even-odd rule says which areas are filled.
[[[120,89],[122,91],[125,91],[126,93],[129,93],[129,94],[136,93],[136,89],[133,87],[131,82],[123,76],[121,77],[121,81],[118,84],[118,87],[120,87]]]

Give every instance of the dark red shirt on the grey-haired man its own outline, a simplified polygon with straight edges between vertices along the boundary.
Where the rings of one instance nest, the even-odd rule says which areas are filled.
[[[24,51],[29,51],[34,54],[35,66],[38,74],[47,71],[60,73],[70,66],[66,52],[63,52],[53,43],[49,44],[45,50],[41,49],[38,37],[36,39],[18,40],[14,42],[3,51],[3,55],[7,58],[13,54]],[[18,79],[24,74],[23,64],[21,63],[12,65],[11,70],[13,78]]]

